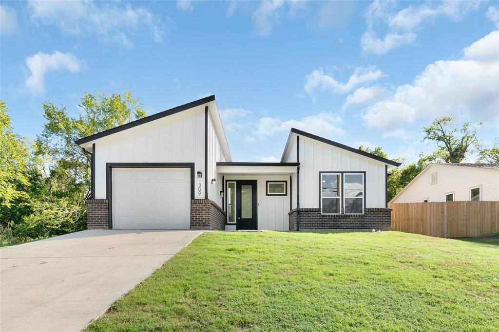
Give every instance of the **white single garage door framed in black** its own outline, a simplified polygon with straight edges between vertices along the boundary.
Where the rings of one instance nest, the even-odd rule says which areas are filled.
[[[113,228],[189,229],[189,168],[113,168]]]

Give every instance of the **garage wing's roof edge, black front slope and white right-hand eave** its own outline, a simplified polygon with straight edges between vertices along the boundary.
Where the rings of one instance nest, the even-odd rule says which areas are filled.
[[[85,144],[88,142],[92,142],[92,141],[98,140],[100,138],[106,137],[108,135],[116,134],[116,133],[119,133],[123,130],[137,127],[137,126],[143,125],[145,123],[155,121],[155,120],[158,120],[158,119],[161,119],[161,118],[164,118],[164,117],[167,117],[167,116],[170,116],[170,115],[182,112],[182,111],[186,111],[186,110],[189,110],[189,109],[192,109],[194,107],[201,106],[203,104],[207,104],[210,102],[215,102],[215,110],[212,110],[210,108],[210,112],[212,112],[212,117],[214,118],[215,129],[216,129],[217,134],[219,136],[220,143],[222,144],[222,149],[224,150],[224,154],[226,155],[226,159],[231,160],[231,153],[229,151],[229,145],[227,143],[227,138],[225,137],[225,132],[224,132],[224,128],[222,125],[222,120],[220,119],[220,114],[218,112],[218,107],[216,106],[215,95],[201,98],[201,99],[192,101],[190,103],[180,105],[180,106],[171,108],[169,110],[159,112],[159,113],[147,116],[145,118],[138,119],[138,120],[126,123],[124,125],[114,127],[114,128],[105,130],[103,132],[96,133],[96,134],[81,138],[81,139],[76,141],[76,144],[82,145],[82,144]]]

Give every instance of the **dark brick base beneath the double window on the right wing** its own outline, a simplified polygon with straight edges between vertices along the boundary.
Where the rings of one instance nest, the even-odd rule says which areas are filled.
[[[366,208],[364,214],[322,215],[319,208],[299,209],[299,229],[391,229],[389,208]],[[289,230],[296,230],[297,209],[289,211]],[[294,228],[292,228],[294,227]]]

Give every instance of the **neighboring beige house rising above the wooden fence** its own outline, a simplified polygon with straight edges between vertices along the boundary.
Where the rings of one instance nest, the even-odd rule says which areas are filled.
[[[499,200],[499,164],[430,164],[390,203]]]

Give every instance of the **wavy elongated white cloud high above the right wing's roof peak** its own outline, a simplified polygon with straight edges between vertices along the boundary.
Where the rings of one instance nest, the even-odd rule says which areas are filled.
[[[357,67],[346,83],[340,83],[332,76],[324,74],[324,71],[320,68],[312,71],[306,76],[306,83],[303,88],[306,93],[311,96],[316,90],[328,90],[334,93],[347,93],[359,84],[376,81],[382,76],[383,72],[379,69],[373,67]]]

